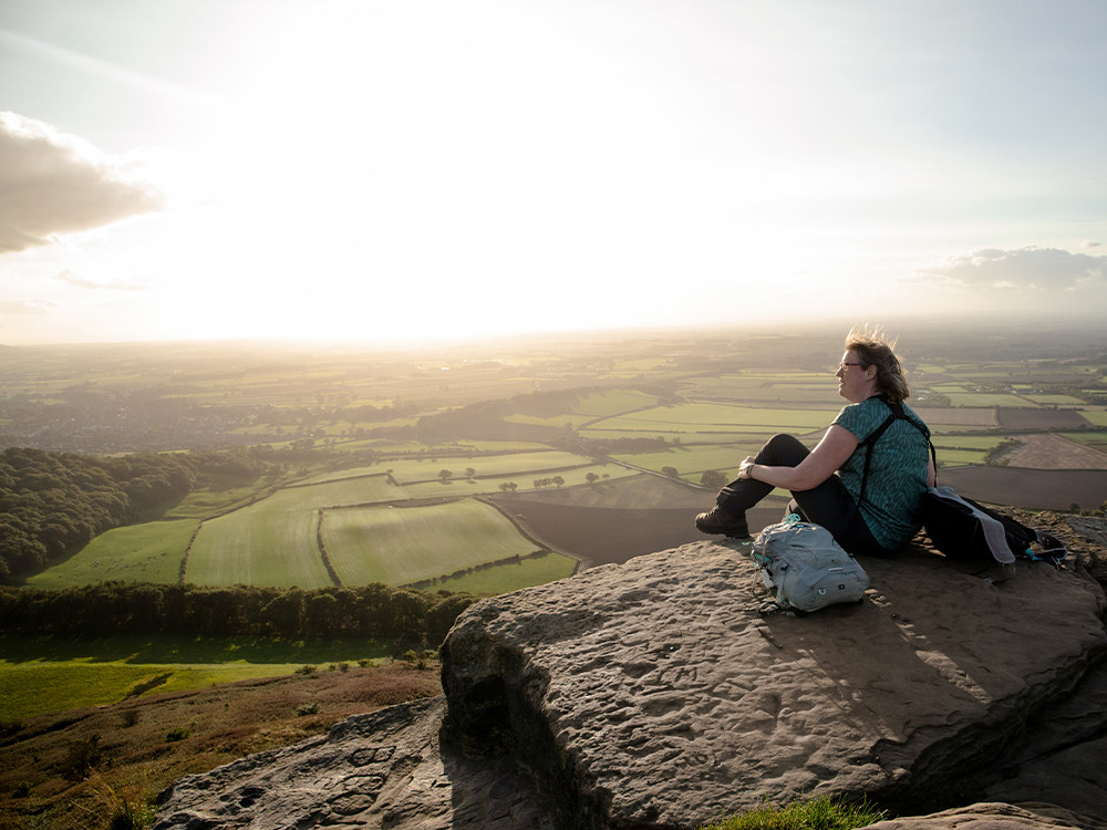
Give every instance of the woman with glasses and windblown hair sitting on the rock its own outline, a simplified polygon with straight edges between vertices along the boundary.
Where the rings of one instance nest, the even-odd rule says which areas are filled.
[[[911,391],[900,362],[878,332],[853,329],[837,376],[838,394],[850,404],[818,446],[808,450],[792,435],[773,436],[742,461],[716,506],[696,516],[701,531],[748,537],[746,510],[780,487],[792,491],[789,512],[825,527],[850,553],[886,553],[910,541],[919,530],[922,494],[934,485],[934,465],[930,430],[902,403]],[[914,423],[897,418],[866,447],[894,406]]]

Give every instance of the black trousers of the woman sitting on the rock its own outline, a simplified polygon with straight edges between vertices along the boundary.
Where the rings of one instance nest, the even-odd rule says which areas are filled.
[[[774,435],[761,448],[754,460],[769,467],[798,467],[811,452],[792,435]],[[754,478],[731,481],[718,491],[716,501],[727,512],[743,515],[773,491],[773,485]],[[850,553],[880,554],[888,549],[878,542],[853,497],[837,475],[809,490],[792,490],[788,512],[804,521],[821,525]]]

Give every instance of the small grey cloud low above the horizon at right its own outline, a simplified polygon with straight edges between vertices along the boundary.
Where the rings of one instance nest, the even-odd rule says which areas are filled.
[[[920,269],[919,273],[973,288],[1070,290],[1107,282],[1107,256],[1059,248],[981,248]]]

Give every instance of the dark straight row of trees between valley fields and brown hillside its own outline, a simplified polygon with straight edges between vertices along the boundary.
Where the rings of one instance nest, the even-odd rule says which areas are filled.
[[[60,590],[0,588],[0,631],[80,635],[206,634],[425,639],[436,646],[475,598],[382,583],[270,588],[101,582]]]

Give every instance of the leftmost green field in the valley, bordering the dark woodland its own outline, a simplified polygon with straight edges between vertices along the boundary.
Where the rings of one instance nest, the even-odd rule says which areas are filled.
[[[79,553],[27,580],[32,588],[69,588],[104,580],[173,583],[180,577],[195,519],[151,521],[101,533]]]

